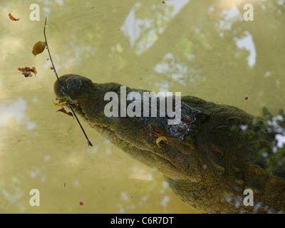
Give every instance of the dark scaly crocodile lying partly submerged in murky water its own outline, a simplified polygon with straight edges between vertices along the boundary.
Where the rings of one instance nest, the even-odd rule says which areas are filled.
[[[276,121],[187,95],[181,97],[176,125],[167,124],[167,115],[106,117],[104,108],[110,100],[105,94],[112,91],[120,98],[121,86],[68,74],[55,82],[54,91],[91,128],[135,160],[162,172],[175,195],[200,212],[285,211],[285,150],[278,140],[285,133],[276,124],[284,123],[283,111]],[[147,90],[126,87],[126,91]]]

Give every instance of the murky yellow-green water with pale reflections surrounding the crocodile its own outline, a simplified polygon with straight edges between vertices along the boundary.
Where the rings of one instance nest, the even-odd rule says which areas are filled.
[[[243,0],[35,3],[40,21],[29,20],[31,1],[0,3],[0,212],[197,212],[159,172],[83,123],[88,148],[77,123],[56,113],[48,54],[31,53],[44,40],[45,16],[59,75],[181,91],[253,115],[264,105],[277,115],[284,103],[284,1],[252,1],[254,21],[244,21]],[[36,66],[37,76],[24,78],[24,66]],[[29,204],[33,188],[40,207]]]

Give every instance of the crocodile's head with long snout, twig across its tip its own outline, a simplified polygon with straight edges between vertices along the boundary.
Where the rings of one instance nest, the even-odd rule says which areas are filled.
[[[200,169],[194,153],[194,140],[199,125],[207,119],[207,115],[182,102],[181,120],[177,125],[168,125],[167,117],[107,117],[105,107],[110,100],[104,98],[105,94],[118,94],[120,110],[120,84],[93,83],[78,75],[61,76],[59,82],[56,81],[54,85],[57,98],[78,100],[78,104],[73,105],[76,113],[80,113],[92,128],[136,160],[160,170],[172,179],[199,179]],[[134,91],[142,94],[147,90],[126,88],[127,94]],[[127,101],[127,108],[130,103],[131,100]],[[166,140],[160,140],[160,136]]]

